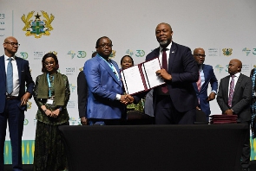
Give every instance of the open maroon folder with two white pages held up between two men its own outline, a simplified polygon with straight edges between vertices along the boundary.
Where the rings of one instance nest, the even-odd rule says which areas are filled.
[[[127,94],[148,91],[155,86],[165,84],[164,80],[156,75],[161,69],[158,58],[142,62],[137,66],[129,67],[121,71],[121,79]]]

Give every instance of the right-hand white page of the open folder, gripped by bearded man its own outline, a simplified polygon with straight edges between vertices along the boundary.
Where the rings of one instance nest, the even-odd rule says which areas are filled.
[[[161,69],[160,62],[158,58],[155,58],[154,60],[149,60],[148,62],[145,62],[142,64],[141,69],[145,75],[145,79],[147,82],[148,89],[153,88],[157,85],[164,84],[164,80],[161,79],[159,76],[156,75],[156,71]]]

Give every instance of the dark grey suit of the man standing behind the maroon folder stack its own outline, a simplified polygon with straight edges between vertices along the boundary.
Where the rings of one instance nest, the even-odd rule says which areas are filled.
[[[233,113],[238,115],[238,122],[247,123],[248,131],[246,135],[246,140],[242,152],[241,165],[243,168],[249,167],[251,146],[250,146],[250,130],[249,125],[252,117],[252,112],[250,110],[250,102],[252,98],[252,79],[244,74],[240,74],[239,79],[234,87],[232,107],[228,106],[228,84],[230,76],[226,76],[220,79],[219,92],[217,95],[217,102],[220,105],[222,113],[226,110],[232,109]]]

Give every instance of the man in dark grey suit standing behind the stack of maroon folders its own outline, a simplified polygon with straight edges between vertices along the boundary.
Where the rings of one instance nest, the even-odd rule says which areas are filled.
[[[249,125],[252,117],[250,101],[252,98],[253,84],[249,77],[240,73],[241,68],[242,62],[240,60],[230,60],[228,65],[228,73],[230,75],[220,79],[217,102],[220,105],[222,114],[238,115],[238,122],[248,125],[241,157],[242,170],[248,170],[251,155]]]

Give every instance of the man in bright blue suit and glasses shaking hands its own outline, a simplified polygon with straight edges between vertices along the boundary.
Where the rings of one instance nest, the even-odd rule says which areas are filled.
[[[126,101],[117,63],[110,60],[112,41],[103,36],[96,41],[97,54],[87,60],[83,72],[89,87],[87,117],[89,125],[118,125],[124,117]]]

